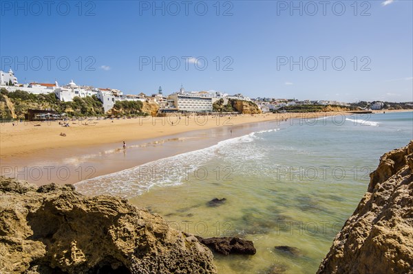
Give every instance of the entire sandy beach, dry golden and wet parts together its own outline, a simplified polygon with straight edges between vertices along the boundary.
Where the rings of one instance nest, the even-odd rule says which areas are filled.
[[[195,119],[191,117],[190,122],[187,124],[182,122],[178,126],[168,124],[165,117],[153,117],[156,122],[155,125],[152,124],[152,118],[145,121],[142,119],[141,124],[139,119],[116,119],[113,124],[111,121],[100,120],[98,121],[99,126],[76,124],[73,128],[70,128],[72,130],[70,135],[79,133],[79,137],[83,138],[78,139],[75,145],[65,143],[55,146],[54,141],[47,141],[47,146],[44,146],[45,142],[43,141],[42,144],[40,141],[40,147],[34,146],[31,150],[24,151],[23,146],[12,155],[3,154],[5,144],[3,143],[4,135],[2,134],[1,174],[17,174],[20,175],[15,176],[18,179],[25,179],[36,185],[52,182],[74,184],[96,176],[134,168],[150,161],[207,148],[225,139],[240,137],[255,130],[266,129],[266,127],[271,128],[273,124],[270,123],[273,122],[278,122],[279,125],[285,119],[330,117],[333,115],[348,115],[348,113],[239,115],[231,117],[231,119],[221,117],[220,123],[217,123],[217,119],[209,117],[204,124],[201,124],[201,122],[195,124]],[[203,118],[200,117],[199,121],[202,121],[201,119]],[[116,126],[114,126],[115,124]],[[135,128],[128,129],[131,126],[135,126]],[[43,135],[43,137],[37,137],[37,140],[47,140],[45,135],[59,135],[59,130],[62,130],[58,122],[51,122],[47,128],[33,125],[25,128],[19,125],[12,128],[9,125],[6,130],[2,126],[1,131],[7,131],[10,128],[11,130],[16,128],[21,130],[15,132],[20,139],[25,138],[27,134],[25,130],[31,133],[34,129],[36,135]],[[116,130],[112,130],[112,128]],[[106,138],[96,141],[96,136],[105,135],[110,130],[112,130],[112,133],[109,137],[106,136]],[[119,135],[125,133],[125,130],[129,130],[129,134],[121,139]],[[137,130],[141,131],[139,136],[136,135]],[[69,137],[69,134],[67,135]],[[90,137],[93,137],[92,141]],[[65,138],[67,137],[61,137],[61,139]],[[113,142],[113,139],[117,141]],[[121,148],[123,140],[127,142],[127,150]],[[32,141],[31,144],[33,143],[36,144],[35,141]],[[16,144],[19,144],[19,142],[16,142]],[[66,174],[69,175],[66,176]]]

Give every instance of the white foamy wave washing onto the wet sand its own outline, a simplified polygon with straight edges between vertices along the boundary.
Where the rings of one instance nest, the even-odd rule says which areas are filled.
[[[228,157],[232,161],[242,163],[242,161],[264,157],[264,152],[262,154],[256,151],[252,153],[253,147],[248,148],[246,144],[252,144],[253,141],[260,138],[260,135],[276,130],[278,128],[226,139],[208,148],[193,150],[120,172],[87,179],[76,183],[75,187],[78,192],[85,195],[110,194],[131,198],[148,192],[152,187],[182,185],[185,181],[189,181],[189,177],[197,172],[198,168],[207,164],[211,159]],[[241,153],[240,150],[242,150]]]

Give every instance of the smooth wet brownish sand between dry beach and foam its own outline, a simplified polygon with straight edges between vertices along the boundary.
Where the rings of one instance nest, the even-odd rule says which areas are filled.
[[[158,159],[180,155],[240,137],[253,131],[275,128],[281,121],[267,121],[234,126],[192,130],[175,135],[103,144],[83,148],[54,148],[41,152],[6,157],[1,161],[1,174],[27,180],[36,185],[77,183],[96,176],[118,172]]]

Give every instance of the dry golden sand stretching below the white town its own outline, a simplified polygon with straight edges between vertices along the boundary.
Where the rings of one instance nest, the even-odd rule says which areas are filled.
[[[285,113],[213,117],[138,117],[133,119],[83,119],[70,121],[69,127],[59,122],[17,122],[1,124],[0,157],[21,157],[47,149],[79,148],[92,145],[118,144],[123,141],[151,139],[185,133],[192,130],[231,127],[239,124],[290,119],[294,117],[319,117],[339,113]],[[40,126],[38,126],[40,125]],[[65,137],[61,136],[65,133]]]

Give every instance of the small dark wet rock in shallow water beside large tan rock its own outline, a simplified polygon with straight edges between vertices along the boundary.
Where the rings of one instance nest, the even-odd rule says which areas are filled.
[[[212,251],[221,253],[224,255],[229,254],[244,254],[244,255],[254,255],[257,251],[255,250],[253,242],[249,240],[242,240],[240,238],[232,237],[222,237],[222,238],[201,238],[196,236],[198,240],[209,247]]]

